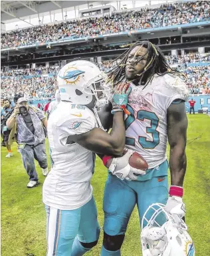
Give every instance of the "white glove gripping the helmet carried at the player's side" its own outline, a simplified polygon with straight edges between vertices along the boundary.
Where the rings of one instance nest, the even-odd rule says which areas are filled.
[[[181,219],[185,216],[186,212],[182,198],[176,197],[175,195],[173,195],[173,197],[169,197],[165,205],[165,211],[173,215],[178,225],[181,224]]]

